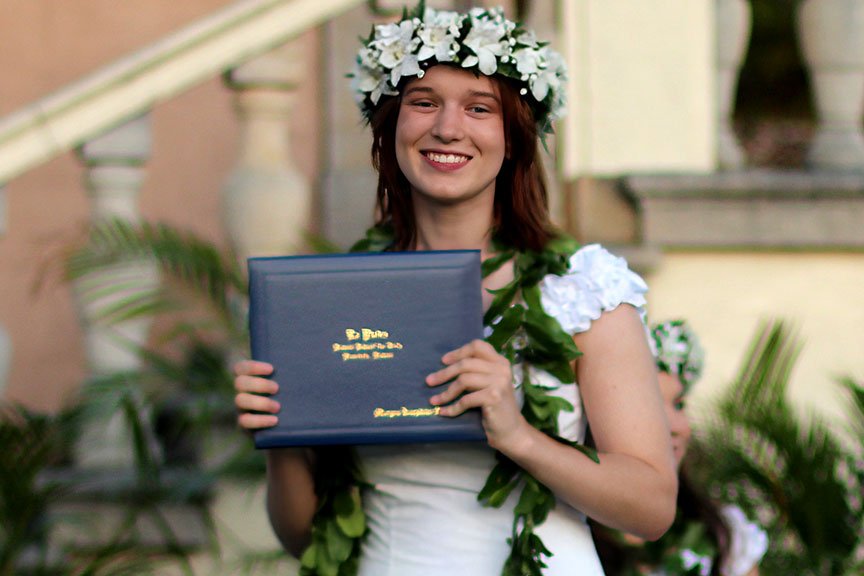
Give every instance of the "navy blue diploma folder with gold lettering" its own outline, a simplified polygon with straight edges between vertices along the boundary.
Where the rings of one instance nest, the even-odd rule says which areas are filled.
[[[279,423],[257,448],[482,440],[425,383],[483,337],[477,250],[250,258],[252,358],[274,366]]]

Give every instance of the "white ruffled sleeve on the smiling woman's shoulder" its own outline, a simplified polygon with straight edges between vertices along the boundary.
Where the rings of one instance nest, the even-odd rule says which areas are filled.
[[[645,281],[627,261],[599,244],[583,246],[570,257],[570,271],[540,283],[543,309],[570,334],[584,332],[591,322],[620,304],[635,306],[645,320]]]

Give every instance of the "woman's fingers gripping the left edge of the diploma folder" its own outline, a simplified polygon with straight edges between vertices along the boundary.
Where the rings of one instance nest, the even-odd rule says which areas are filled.
[[[273,366],[267,362],[241,360],[234,365],[234,404],[240,410],[237,423],[246,430],[258,430],[275,426],[279,419],[279,402],[262,396],[275,394],[279,385],[273,380],[264,378],[273,373]]]

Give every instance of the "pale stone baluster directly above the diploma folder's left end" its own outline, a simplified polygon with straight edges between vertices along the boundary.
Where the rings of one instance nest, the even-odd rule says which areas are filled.
[[[237,164],[222,189],[222,218],[243,258],[299,251],[314,228],[310,186],[293,160],[290,139],[306,58],[298,39],[226,75],[240,139]]]

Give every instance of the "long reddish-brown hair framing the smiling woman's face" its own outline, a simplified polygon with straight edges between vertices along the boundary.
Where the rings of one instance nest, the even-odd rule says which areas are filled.
[[[507,155],[495,180],[495,237],[517,250],[540,251],[554,236],[530,105],[509,79],[493,76],[501,95]],[[404,87],[403,87],[404,88]],[[396,160],[396,123],[401,98],[389,96],[372,116],[372,166],[378,172],[376,225],[392,226],[393,249],[410,250],[417,240],[411,185]]]

